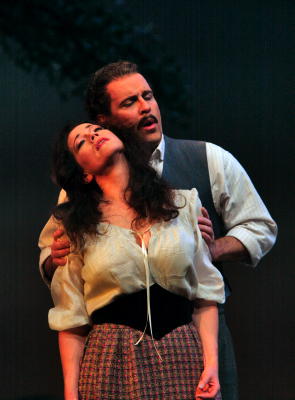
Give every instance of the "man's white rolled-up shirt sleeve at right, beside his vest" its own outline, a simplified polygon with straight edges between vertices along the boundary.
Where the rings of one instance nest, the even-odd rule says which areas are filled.
[[[213,201],[226,236],[246,247],[255,267],[274,245],[277,225],[246,171],[228,151],[207,143],[207,159]]]

